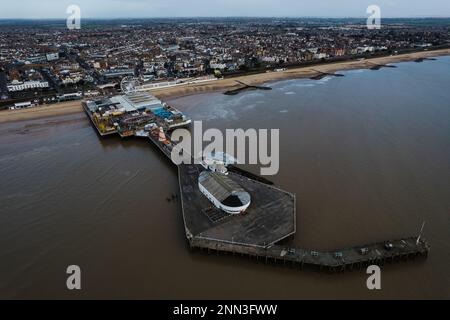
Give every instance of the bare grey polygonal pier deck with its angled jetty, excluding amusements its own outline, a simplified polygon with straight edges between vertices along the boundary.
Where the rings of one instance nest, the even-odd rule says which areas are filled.
[[[150,140],[170,158],[161,143]],[[327,272],[344,272],[401,261],[426,258],[430,247],[420,239],[405,238],[333,251],[318,251],[279,244],[295,235],[296,198],[263,182],[230,173],[252,195],[260,196],[245,216],[229,216],[219,212],[198,192],[200,165],[178,167],[183,219],[191,249],[208,254],[232,254],[266,264],[281,264],[295,268],[312,267]],[[245,173],[239,169],[240,173]],[[246,183],[247,182],[247,183]],[[272,183],[273,184],[273,183]],[[274,214],[278,213],[278,214]],[[292,214],[293,213],[293,214]],[[258,225],[265,224],[261,230]],[[274,228],[270,228],[270,226]],[[261,232],[263,231],[263,233]]]

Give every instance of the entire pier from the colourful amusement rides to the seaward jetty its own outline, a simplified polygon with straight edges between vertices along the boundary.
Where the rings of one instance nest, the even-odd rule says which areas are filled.
[[[145,99],[151,101],[151,97],[144,96],[139,96],[137,101],[143,103]],[[116,100],[109,101],[109,106],[115,113],[119,110],[116,108]],[[171,130],[167,127],[167,123],[172,125],[173,123],[168,121],[169,118],[161,118],[163,113],[160,107],[157,109],[147,107],[148,111],[140,112],[131,108],[133,115],[131,120],[138,127],[129,127],[131,122],[124,121],[130,119],[128,114],[113,119],[106,116],[99,117],[96,108],[98,106],[105,108],[106,105],[101,101],[84,104],[86,113],[101,136],[115,133],[121,137],[135,136],[147,139],[173,163],[171,153],[174,145],[170,140]],[[156,105],[159,105],[159,102],[156,102]],[[167,110],[174,110],[174,114],[181,119],[179,121],[186,121],[177,110],[173,108]],[[152,123],[142,123],[141,120],[145,119],[151,119]],[[114,125],[99,128],[99,124],[104,124],[106,120],[107,124]],[[121,127],[124,125],[126,130]],[[208,171],[204,165],[193,163],[177,166],[180,196],[172,197],[181,199],[186,239],[192,249],[246,256],[265,263],[280,263],[292,267],[314,267],[330,272],[352,270],[372,264],[382,265],[428,255],[429,245],[421,236],[326,252],[292,246],[289,240],[296,234],[296,196],[275,186],[273,182],[237,166],[228,165],[227,169],[228,181],[251,195],[251,204],[241,214],[230,214],[220,210],[201,192],[199,176]]]

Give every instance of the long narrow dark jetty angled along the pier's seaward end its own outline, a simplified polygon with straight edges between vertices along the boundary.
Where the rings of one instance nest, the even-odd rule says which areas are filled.
[[[417,238],[405,238],[326,252],[286,245],[243,246],[202,238],[192,239],[189,244],[193,249],[200,249],[208,253],[233,254],[265,263],[278,263],[298,268],[313,267],[329,272],[344,272],[365,268],[369,265],[382,266],[386,263],[427,257],[430,250],[425,240]]]

